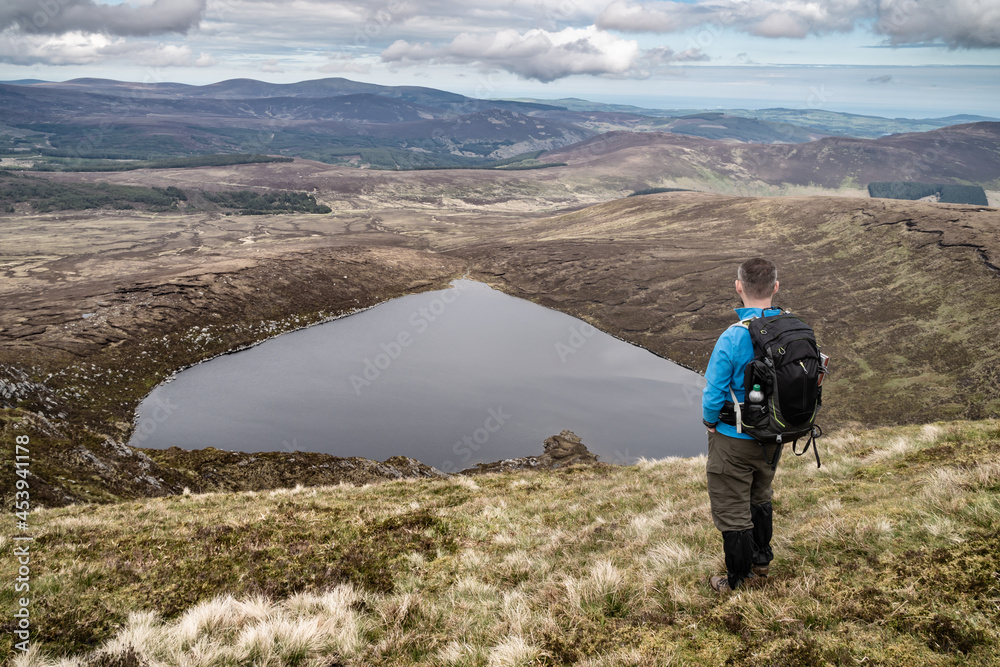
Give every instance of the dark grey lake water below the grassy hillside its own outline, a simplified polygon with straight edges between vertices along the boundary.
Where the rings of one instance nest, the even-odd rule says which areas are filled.
[[[705,450],[704,378],[563,313],[459,280],[179,373],[138,447],[404,455],[445,471],[540,454],[569,429],[602,461]]]

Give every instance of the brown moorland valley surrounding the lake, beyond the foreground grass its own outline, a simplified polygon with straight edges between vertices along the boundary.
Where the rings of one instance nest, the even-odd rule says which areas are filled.
[[[578,182],[589,177],[566,169]],[[834,359],[829,428],[998,414],[996,209],[708,192],[593,203],[582,185],[573,196],[535,176],[553,171],[484,178],[295,161],[51,174],[182,189],[297,185],[333,213],[8,219],[0,362],[8,383],[27,386],[7,403],[5,428],[26,410],[55,420],[27,417],[39,435],[49,430],[48,502],[176,493],[190,485],[185,474],[155,464],[155,474],[121,475],[136,461],[102,444],[127,438],[132,411],[156,383],[464,274],[703,371],[737,305],[732,267],[747,254],[778,260],[780,303],[814,323]],[[525,443],[524,454],[538,446]]]

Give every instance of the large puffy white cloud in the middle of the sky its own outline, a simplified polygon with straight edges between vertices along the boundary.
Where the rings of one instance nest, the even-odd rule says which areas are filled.
[[[635,40],[622,39],[594,26],[558,32],[466,32],[444,46],[398,40],[382,52],[382,60],[388,63],[470,64],[542,82],[574,74],[645,77],[651,69],[668,62],[701,59],[704,56],[697,51],[679,55],[667,48],[642,51]]]

